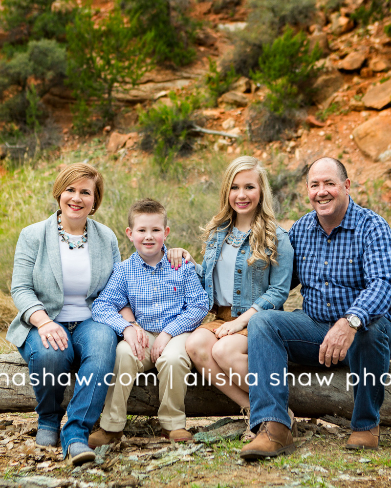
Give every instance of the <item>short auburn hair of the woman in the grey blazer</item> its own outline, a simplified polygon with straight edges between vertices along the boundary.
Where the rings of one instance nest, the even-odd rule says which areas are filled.
[[[69,164],[69,166],[66,166],[66,168],[60,171],[53,185],[53,197],[60,205],[60,198],[63,191],[65,191],[67,186],[70,186],[72,183],[79,180],[92,180],[94,182],[94,211],[90,212],[90,214],[93,215],[102,203],[104,183],[101,173],[91,166],[91,164]]]

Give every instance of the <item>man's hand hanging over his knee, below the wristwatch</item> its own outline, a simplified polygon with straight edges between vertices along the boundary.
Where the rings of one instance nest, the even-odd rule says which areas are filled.
[[[347,319],[342,318],[327,332],[323,343],[319,347],[319,363],[327,367],[338,361],[343,361],[351,346],[357,330],[350,327]]]

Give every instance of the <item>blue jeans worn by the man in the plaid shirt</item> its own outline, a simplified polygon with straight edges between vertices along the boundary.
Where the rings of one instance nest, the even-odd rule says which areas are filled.
[[[258,374],[258,386],[250,386],[250,427],[261,422],[280,422],[290,428],[287,413],[289,387],[283,385],[283,370],[287,362],[307,366],[320,366],[319,346],[329,328],[328,322],[312,320],[302,310],[283,312],[265,310],[253,315],[248,324],[248,369]],[[368,331],[358,331],[342,364],[360,377],[353,387],[353,430],[369,430],[379,425],[379,409],[384,400],[381,375],[390,366],[391,323],[381,318],[369,325]],[[325,366],[326,367],[326,366]],[[367,378],[364,386],[364,368]],[[278,386],[270,375],[278,373]],[[373,386],[373,373],[375,385]],[[251,380],[252,381],[252,380]],[[383,383],[389,379],[384,376]],[[327,387],[327,386],[325,386]]]

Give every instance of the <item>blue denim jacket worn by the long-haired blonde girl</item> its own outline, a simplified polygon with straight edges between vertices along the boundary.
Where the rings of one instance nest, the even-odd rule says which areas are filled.
[[[210,236],[205,249],[202,264],[197,264],[196,272],[209,297],[209,309],[214,305],[213,270],[221,253],[221,247],[229,229],[225,224],[217,228],[217,232]],[[278,265],[270,264],[264,268],[265,262],[257,260],[249,266],[247,259],[251,255],[250,236],[247,236],[238,250],[235,263],[234,296],[232,299],[231,315],[240,314],[253,307],[257,311],[276,309],[282,310],[282,305],[288,298],[293,268],[293,248],[288,233],[280,226],[277,227],[277,260]],[[266,249],[267,254],[271,254]]]

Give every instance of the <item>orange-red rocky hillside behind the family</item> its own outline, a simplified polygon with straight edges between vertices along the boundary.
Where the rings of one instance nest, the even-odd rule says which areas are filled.
[[[112,8],[112,2],[93,3],[97,19]],[[198,134],[198,146],[210,143],[228,157],[246,150],[269,165],[272,173],[300,173],[305,164],[321,155],[339,158],[354,182],[352,195],[356,201],[371,205],[390,221],[391,38],[384,26],[391,23],[391,15],[365,27],[352,20],[363,0],[339,4],[339,9],[328,13],[319,4],[314,23],[306,27],[311,46],[319,42],[323,51],[318,61],[323,69],[314,85],[316,105],[301,114],[295,130],[285,132],[278,141],[257,142],[251,103],[262,101],[265,90],[241,77],[218,99],[217,108],[204,108],[198,114],[204,128],[232,137]],[[136,132],[138,107],[162,102],[169,105],[170,91],[181,97],[199,89],[209,70],[209,59],[218,66],[227,58],[233,49],[232,33],[246,29],[248,12],[244,0],[194,0],[191,15],[202,22],[196,36],[195,62],[182,68],[159,67],[146,74],[137,88],[117,88],[115,96],[122,108],[114,123],[99,135],[106,138],[107,151],[118,153],[130,166],[140,161],[146,154],[140,149]],[[61,150],[77,147],[81,138],[72,134],[70,90],[54,87],[44,102],[62,128]],[[297,186],[304,194],[302,180]]]

